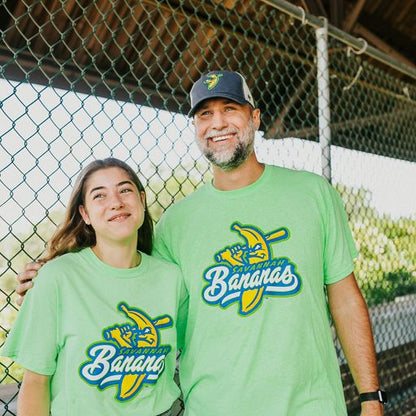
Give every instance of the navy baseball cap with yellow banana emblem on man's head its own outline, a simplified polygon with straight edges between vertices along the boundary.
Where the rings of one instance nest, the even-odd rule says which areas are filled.
[[[191,89],[191,111],[195,114],[202,101],[210,98],[228,98],[239,104],[250,104],[254,107],[253,96],[243,76],[233,71],[212,71],[202,75]]]

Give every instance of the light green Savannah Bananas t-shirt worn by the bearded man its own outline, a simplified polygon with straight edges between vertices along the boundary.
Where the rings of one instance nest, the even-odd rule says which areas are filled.
[[[357,253],[323,178],[266,166],[242,189],[206,184],[162,216],[155,250],[189,292],[186,415],[346,415],[324,286]]]

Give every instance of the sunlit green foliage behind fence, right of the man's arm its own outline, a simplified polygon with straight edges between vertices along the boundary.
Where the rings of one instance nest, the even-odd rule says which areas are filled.
[[[416,219],[380,216],[371,193],[336,185],[360,253],[355,274],[368,305],[416,293]]]

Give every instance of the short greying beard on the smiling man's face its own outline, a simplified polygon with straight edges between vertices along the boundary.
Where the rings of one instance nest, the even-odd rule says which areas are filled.
[[[230,156],[224,155],[220,150],[216,152],[210,150],[205,145],[205,139],[197,139],[197,143],[199,149],[209,162],[221,170],[228,172],[241,166],[251,155],[254,149],[255,132],[253,120],[250,120]],[[224,134],[224,132],[218,133]]]

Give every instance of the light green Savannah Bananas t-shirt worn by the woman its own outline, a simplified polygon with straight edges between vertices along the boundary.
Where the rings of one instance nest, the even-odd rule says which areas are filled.
[[[173,380],[179,268],[142,253],[138,267],[101,262],[90,248],[39,272],[1,354],[51,377],[51,413],[158,415]]]

